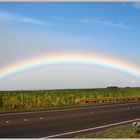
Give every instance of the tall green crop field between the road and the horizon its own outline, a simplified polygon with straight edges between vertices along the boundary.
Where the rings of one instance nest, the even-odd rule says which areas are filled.
[[[77,98],[140,96],[140,88],[0,91],[0,110],[75,105]]]

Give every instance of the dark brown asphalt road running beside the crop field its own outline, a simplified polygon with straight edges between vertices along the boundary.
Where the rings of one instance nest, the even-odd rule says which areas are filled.
[[[72,138],[140,118],[140,102],[0,114],[0,138]]]

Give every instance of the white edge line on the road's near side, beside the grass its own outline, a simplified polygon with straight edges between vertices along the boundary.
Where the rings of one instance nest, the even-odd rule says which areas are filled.
[[[139,120],[140,120],[140,118],[133,119],[133,120],[127,120],[127,121],[123,121],[123,122],[118,122],[118,123],[107,124],[107,125],[98,126],[98,127],[92,127],[92,128],[77,130],[77,131],[70,131],[70,132],[56,134],[56,135],[50,135],[50,136],[43,137],[43,138],[55,138],[55,137],[59,137],[59,136],[65,136],[65,135],[74,134],[74,133],[86,132],[86,131],[90,131],[90,130],[96,130],[96,129],[106,128],[106,127],[110,127],[110,126],[116,126],[116,125],[130,123],[130,122],[139,121]]]

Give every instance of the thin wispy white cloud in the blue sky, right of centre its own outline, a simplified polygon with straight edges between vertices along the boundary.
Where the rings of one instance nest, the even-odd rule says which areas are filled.
[[[98,20],[98,19],[82,19],[80,20],[81,23],[96,23],[101,25],[106,25],[114,28],[121,28],[121,29],[132,29],[131,26],[126,25],[123,22],[112,22],[111,20]]]

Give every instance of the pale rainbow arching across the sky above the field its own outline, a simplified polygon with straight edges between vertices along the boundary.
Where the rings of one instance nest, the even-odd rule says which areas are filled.
[[[38,56],[37,58],[27,59],[26,61],[17,62],[0,69],[0,79],[17,75],[18,73],[28,71],[41,66],[53,64],[88,64],[108,67],[129,75],[140,78],[140,68],[128,62],[122,62],[119,59],[112,59],[106,56],[97,56],[91,54],[52,54]]]

